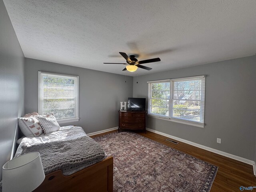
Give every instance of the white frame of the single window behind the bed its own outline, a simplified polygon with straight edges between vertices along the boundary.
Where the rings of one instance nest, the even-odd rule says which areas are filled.
[[[58,118],[57,122],[59,123],[68,123],[68,122],[76,122],[79,121],[79,76],[74,75],[66,75],[66,74],[58,74],[58,73],[49,73],[38,71],[38,114],[41,115],[41,91],[42,91],[42,75],[51,75],[56,77],[64,77],[64,78],[74,78],[76,80],[76,108],[75,108],[75,116],[71,118]]]

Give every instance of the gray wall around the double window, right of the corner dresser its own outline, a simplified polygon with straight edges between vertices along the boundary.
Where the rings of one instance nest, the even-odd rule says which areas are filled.
[[[133,96],[148,97],[147,81],[206,75],[205,124],[198,128],[148,117],[147,127],[255,160],[256,56],[134,78]],[[221,138],[221,144],[216,143]]]

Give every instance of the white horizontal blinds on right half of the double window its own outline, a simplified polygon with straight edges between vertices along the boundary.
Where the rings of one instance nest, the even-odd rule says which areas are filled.
[[[172,116],[204,123],[205,77],[172,80]]]

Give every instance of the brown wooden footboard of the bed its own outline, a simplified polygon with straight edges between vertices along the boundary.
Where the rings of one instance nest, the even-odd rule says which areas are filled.
[[[64,176],[57,170],[45,176],[34,192],[112,192],[113,157],[84,168],[72,175]]]

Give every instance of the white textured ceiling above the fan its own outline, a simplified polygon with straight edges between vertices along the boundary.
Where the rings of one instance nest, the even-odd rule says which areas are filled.
[[[256,0],[4,0],[25,57],[138,75],[256,53]],[[136,72],[126,72],[135,76]]]

